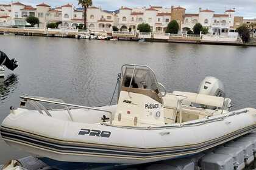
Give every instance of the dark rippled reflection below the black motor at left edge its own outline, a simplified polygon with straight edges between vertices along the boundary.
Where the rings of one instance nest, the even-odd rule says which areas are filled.
[[[18,76],[10,74],[6,78],[0,78],[0,102],[4,103],[4,100],[8,95],[12,94],[19,82]]]

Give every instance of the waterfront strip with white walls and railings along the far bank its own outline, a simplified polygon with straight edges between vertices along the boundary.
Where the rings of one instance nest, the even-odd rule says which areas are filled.
[[[187,35],[187,34],[170,34],[170,33],[140,33],[140,32],[90,32],[88,30],[78,29],[43,29],[35,27],[0,27],[2,34],[15,34],[27,36],[60,36],[68,38],[76,38],[78,35],[105,35],[120,40],[133,40],[151,42],[183,42],[195,44],[227,44],[227,45],[243,45],[239,36],[221,36],[221,35]]]

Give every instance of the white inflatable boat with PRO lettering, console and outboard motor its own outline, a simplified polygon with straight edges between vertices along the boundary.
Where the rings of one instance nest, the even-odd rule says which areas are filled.
[[[2,122],[2,138],[56,161],[138,164],[196,154],[254,131],[256,110],[230,111],[214,78],[202,81],[198,94],[168,93],[147,66],[125,64],[121,70],[117,105],[22,96],[21,108],[11,107]],[[35,109],[23,108],[28,105]]]

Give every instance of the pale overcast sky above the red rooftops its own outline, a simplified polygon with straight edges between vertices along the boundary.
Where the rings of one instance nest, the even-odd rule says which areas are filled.
[[[0,0],[0,4],[10,2],[10,0]],[[68,3],[77,6],[77,0],[20,0],[20,2],[29,5],[37,5],[40,2],[45,2],[52,7]],[[216,13],[223,13],[226,9],[235,8],[236,16],[256,18],[256,0],[93,0],[93,5],[101,7],[104,10],[116,10],[121,6],[148,7],[149,5],[161,5],[170,8],[171,5],[180,5],[187,9],[186,13],[197,13],[199,7],[214,10]]]

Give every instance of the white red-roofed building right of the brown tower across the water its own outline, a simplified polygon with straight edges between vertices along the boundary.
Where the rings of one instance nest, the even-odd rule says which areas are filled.
[[[226,10],[223,14],[215,14],[213,10],[199,9],[199,13],[185,14],[181,29],[183,32],[192,30],[194,25],[199,22],[203,27],[207,27],[210,33],[227,34],[234,28],[234,14],[235,10]]]

